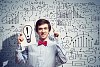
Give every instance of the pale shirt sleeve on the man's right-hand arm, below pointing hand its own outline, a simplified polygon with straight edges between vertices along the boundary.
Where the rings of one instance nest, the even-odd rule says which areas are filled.
[[[56,64],[59,66],[67,62],[67,57],[66,57],[66,50],[63,49],[62,41],[56,40],[56,43],[57,43]]]

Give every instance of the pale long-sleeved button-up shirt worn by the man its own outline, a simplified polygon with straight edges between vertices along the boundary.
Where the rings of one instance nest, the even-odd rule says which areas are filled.
[[[17,49],[19,61],[28,63],[32,67],[57,67],[66,63],[65,51],[57,42],[47,40],[47,46],[38,43],[26,47],[24,51]]]

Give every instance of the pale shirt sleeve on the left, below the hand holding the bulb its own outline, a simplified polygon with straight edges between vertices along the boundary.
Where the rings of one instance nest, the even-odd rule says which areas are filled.
[[[20,44],[16,49],[16,62],[17,63],[26,63],[28,56],[28,47],[22,47]]]

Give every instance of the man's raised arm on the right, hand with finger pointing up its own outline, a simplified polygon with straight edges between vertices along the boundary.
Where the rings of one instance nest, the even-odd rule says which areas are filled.
[[[60,35],[58,32],[54,32],[54,39],[56,41],[56,64],[57,66],[60,66],[62,64],[65,64],[67,62],[67,57],[66,57],[66,50],[63,49],[63,43],[61,41]]]

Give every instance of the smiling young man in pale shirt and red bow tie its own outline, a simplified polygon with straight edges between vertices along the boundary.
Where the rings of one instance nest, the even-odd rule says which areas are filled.
[[[17,60],[19,63],[28,63],[30,67],[57,67],[66,63],[67,59],[65,51],[62,49],[59,40],[51,41],[48,37],[51,25],[48,20],[39,19],[36,22],[35,31],[39,35],[36,44],[25,47],[25,50],[17,49]],[[54,37],[58,37],[58,33],[54,33]],[[23,42],[23,37],[18,37],[19,45]]]

